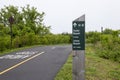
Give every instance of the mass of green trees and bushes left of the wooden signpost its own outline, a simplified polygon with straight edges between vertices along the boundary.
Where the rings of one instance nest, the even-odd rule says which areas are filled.
[[[10,5],[0,9],[0,52],[23,46],[70,43],[71,34],[50,32],[51,27],[43,22],[44,15],[29,5],[21,8]],[[12,27],[9,22],[11,16]]]

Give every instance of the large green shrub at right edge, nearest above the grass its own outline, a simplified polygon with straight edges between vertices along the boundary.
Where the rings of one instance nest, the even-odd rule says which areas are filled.
[[[96,49],[100,57],[120,62],[119,37],[102,35],[101,42],[96,44]]]

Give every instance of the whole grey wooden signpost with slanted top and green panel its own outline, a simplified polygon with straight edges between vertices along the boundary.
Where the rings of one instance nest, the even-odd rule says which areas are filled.
[[[73,80],[85,80],[85,15],[72,24]]]

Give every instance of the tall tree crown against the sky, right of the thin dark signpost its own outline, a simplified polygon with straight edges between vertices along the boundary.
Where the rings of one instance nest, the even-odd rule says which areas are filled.
[[[39,31],[45,28],[42,23],[44,12],[39,13],[36,8],[30,8],[29,5],[27,5],[27,7],[22,7],[22,12],[25,26],[30,27],[35,34],[40,33]]]

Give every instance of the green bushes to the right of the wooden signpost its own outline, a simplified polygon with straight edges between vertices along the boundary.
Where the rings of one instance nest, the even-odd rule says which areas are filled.
[[[120,30],[105,29],[102,33],[88,32],[86,42],[94,44],[96,54],[120,62]]]

